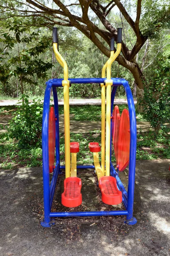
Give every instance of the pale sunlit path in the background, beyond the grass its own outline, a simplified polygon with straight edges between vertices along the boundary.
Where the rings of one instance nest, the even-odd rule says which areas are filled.
[[[31,101],[30,101],[31,102]],[[18,100],[0,100],[0,106],[12,106],[17,105]],[[51,101],[54,104],[53,101]],[[136,104],[136,99],[134,99]],[[101,105],[101,99],[69,99],[70,105]],[[126,99],[115,99],[115,104],[127,104]],[[58,105],[64,105],[63,99],[58,100]]]

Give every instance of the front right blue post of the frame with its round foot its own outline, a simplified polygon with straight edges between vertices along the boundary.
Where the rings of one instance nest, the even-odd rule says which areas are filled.
[[[126,95],[127,103],[129,108],[130,116],[130,159],[129,159],[129,177],[128,177],[128,190],[127,190],[127,220],[126,223],[133,225],[137,222],[136,218],[133,217],[133,202],[134,202],[134,189],[135,189],[135,162],[136,162],[136,142],[137,142],[137,131],[136,131],[136,115],[135,105],[133,102],[133,95],[130,90],[130,86],[126,80],[122,81]]]

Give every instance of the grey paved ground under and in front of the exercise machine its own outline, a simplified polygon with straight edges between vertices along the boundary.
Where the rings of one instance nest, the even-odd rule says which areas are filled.
[[[137,161],[134,215],[138,223],[134,226],[124,224],[123,217],[102,217],[58,218],[54,227],[43,228],[39,223],[42,168],[1,170],[0,255],[169,256],[169,165],[170,160]],[[124,183],[127,173],[121,173]],[[87,182],[90,177],[92,173]],[[83,187],[86,193],[88,183]],[[98,196],[96,189],[93,183],[92,198]]]

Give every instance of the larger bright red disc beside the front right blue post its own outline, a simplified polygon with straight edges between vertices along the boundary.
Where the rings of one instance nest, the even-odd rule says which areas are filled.
[[[124,109],[121,114],[118,138],[118,170],[124,171],[129,164],[130,155],[130,119],[129,111]]]

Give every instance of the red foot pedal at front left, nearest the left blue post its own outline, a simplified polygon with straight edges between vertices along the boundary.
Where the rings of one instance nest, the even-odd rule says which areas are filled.
[[[61,195],[61,204],[66,207],[77,207],[82,203],[81,179],[68,177],[64,180],[64,192]]]

